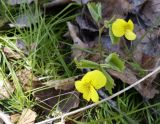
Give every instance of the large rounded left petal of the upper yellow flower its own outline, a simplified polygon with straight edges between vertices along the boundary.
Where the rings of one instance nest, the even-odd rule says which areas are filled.
[[[122,37],[125,34],[125,26],[127,22],[123,19],[117,19],[112,24],[112,32],[116,37]]]

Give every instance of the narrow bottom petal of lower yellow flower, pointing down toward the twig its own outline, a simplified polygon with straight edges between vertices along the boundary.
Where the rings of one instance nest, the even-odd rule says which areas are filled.
[[[93,87],[90,88],[89,95],[90,95],[90,98],[93,102],[98,102],[99,101],[98,93]]]

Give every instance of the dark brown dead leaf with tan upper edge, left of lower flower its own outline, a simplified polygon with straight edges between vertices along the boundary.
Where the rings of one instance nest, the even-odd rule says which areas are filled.
[[[53,107],[58,107],[59,112],[66,113],[73,108],[79,106],[79,93],[74,90],[74,82],[81,75],[70,77],[62,80],[50,80],[43,83],[43,86],[47,86],[47,89],[34,93],[37,101],[45,112],[48,113]],[[53,112],[53,115],[59,113]]]

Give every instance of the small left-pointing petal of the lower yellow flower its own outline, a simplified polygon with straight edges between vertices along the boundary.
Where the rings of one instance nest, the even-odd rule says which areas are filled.
[[[88,87],[86,83],[83,81],[76,81],[75,87],[80,93],[84,93],[84,94],[88,93]]]

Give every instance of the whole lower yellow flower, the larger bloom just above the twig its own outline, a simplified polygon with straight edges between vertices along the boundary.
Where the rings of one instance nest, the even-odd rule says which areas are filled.
[[[76,81],[75,87],[87,101],[91,99],[93,102],[98,102],[99,96],[96,90],[104,87],[106,80],[105,75],[101,71],[94,70],[85,74],[82,80]]]

